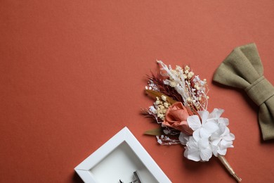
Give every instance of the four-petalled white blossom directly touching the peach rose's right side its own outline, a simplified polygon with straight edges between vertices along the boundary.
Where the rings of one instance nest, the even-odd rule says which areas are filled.
[[[193,132],[193,138],[196,141],[199,141],[201,138],[209,138],[212,133],[216,132],[218,130],[217,121],[214,119],[208,120],[209,111],[198,111],[200,117],[202,118],[202,122],[200,121],[200,118],[198,115],[191,115],[188,117],[188,125],[191,127]],[[214,113],[214,111],[212,112]]]

